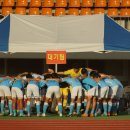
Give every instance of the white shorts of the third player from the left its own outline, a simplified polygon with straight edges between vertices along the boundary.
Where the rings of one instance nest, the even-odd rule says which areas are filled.
[[[32,94],[35,98],[39,98],[39,88],[35,84],[28,84],[27,85],[27,98],[31,98]]]

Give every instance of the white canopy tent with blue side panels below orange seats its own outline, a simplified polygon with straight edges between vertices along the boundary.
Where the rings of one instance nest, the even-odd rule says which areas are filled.
[[[11,14],[0,21],[0,51],[43,53],[130,51],[130,32],[107,15],[29,16]]]

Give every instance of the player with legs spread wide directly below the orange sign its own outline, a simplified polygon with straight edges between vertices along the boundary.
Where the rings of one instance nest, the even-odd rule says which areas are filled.
[[[46,85],[47,85],[47,93],[46,93],[46,101],[43,106],[43,114],[42,116],[46,116],[46,111],[48,108],[49,99],[52,98],[52,95],[55,94],[56,100],[58,102],[59,116],[62,117],[62,103],[61,103],[61,94],[60,94],[60,86],[59,86],[59,77],[56,73],[47,74],[45,76]]]

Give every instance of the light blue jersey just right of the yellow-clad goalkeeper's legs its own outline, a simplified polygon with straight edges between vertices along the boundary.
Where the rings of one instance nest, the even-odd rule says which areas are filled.
[[[64,82],[67,82],[68,84],[70,84],[72,86],[72,88],[82,86],[81,82],[76,78],[67,77],[67,78],[63,78],[62,80]]]

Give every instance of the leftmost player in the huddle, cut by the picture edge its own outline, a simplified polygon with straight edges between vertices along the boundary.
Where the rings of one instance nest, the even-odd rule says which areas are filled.
[[[12,98],[10,87],[13,83],[13,79],[9,76],[3,77],[0,82],[0,97],[1,97],[1,114],[4,115],[4,103],[5,98],[8,99],[9,115],[13,115],[12,111]]]

